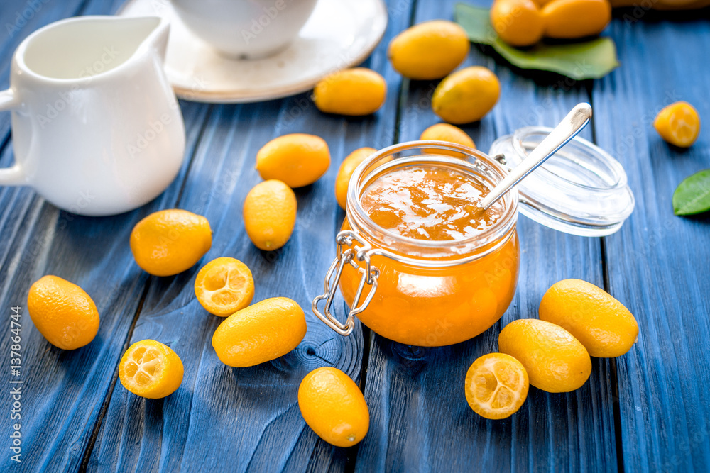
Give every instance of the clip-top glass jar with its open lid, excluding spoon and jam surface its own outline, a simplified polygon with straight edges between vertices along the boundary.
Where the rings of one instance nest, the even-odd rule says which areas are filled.
[[[613,157],[580,138],[563,148],[567,154],[558,152],[557,161],[547,169],[543,165],[525,180],[537,173],[532,179],[537,194],[545,194],[540,191],[542,179],[554,188],[557,199],[564,191],[586,193],[594,202],[581,209],[582,216],[575,215],[574,208],[564,212],[536,194],[542,201],[537,206],[537,200],[523,194],[523,181],[503,196],[503,213],[493,226],[464,240],[432,241],[408,238],[378,226],[361,205],[371,182],[408,166],[448,167],[492,189],[510,171],[508,166],[520,162],[549,131],[525,128],[496,140],[491,150],[504,148],[506,154],[495,157],[437,141],[400,143],[368,157],[350,179],[346,220],[336,238],[337,257],[327,272],[324,294],[312,303],[313,312],[341,335],[351,333],[357,316],[375,333],[400,343],[459,343],[490,328],[513,300],[520,259],[518,189],[525,214],[547,226],[577,235],[608,235],[618,230],[633,210],[626,174]],[[580,158],[580,152],[586,156]],[[567,204],[567,199],[559,202],[560,206]],[[601,208],[599,213],[606,210],[608,215],[596,215],[596,221],[591,218],[589,208],[595,205]],[[620,207],[624,211],[618,211]],[[338,286],[351,307],[345,323],[331,312]],[[320,301],[325,301],[322,311]]]

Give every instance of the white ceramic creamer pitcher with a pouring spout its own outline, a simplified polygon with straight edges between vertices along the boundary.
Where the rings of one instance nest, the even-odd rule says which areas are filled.
[[[159,17],[83,16],[28,36],[0,110],[12,111],[15,165],[0,185],[31,186],[87,216],[146,204],[178,174],[185,125],[163,72]]]

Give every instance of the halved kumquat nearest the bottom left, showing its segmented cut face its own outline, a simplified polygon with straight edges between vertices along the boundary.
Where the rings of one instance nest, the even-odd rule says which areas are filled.
[[[119,379],[124,388],[148,399],[173,394],[182,383],[182,374],[178,354],[155,340],[133,343],[119,363]]]

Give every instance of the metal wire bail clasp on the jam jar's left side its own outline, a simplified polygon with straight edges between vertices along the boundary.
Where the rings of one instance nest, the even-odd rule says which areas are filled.
[[[358,235],[356,235],[356,233],[351,230],[343,230],[342,232],[338,233],[336,241],[338,243],[338,256],[335,258],[332,265],[330,265],[330,269],[328,269],[328,274],[326,274],[325,276],[325,281],[323,284],[325,292],[320,296],[316,296],[316,298],[313,299],[311,308],[313,313],[315,313],[315,315],[317,315],[320,320],[326,323],[326,325],[328,325],[340,335],[347,336],[350,335],[350,333],[353,331],[353,328],[355,328],[354,317],[364,311],[367,305],[370,304],[372,296],[374,296],[375,291],[377,290],[377,277],[380,275],[380,271],[379,269],[370,264],[370,252],[372,250],[372,247],[368,245],[368,243],[366,243],[364,240],[362,240]],[[353,246],[354,242],[357,242],[360,245],[355,245],[354,247],[351,247]],[[343,250],[343,247],[348,248],[346,250]],[[364,262],[365,267],[361,267],[355,260],[358,260],[359,262]],[[343,274],[343,268],[346,264],[349,264],[355,269],[357,269],[360,272],[361,277],[360,284],[357,287],[357,291],[355,293],[355,297],[350,308],[350,313],[348,314],[348,317],[345,323],[343,324],[340,323],[340,321],[338,321],[338,319],[333,316],[333,314],[330,312],[330,308],[333,304],[335,291],[337,291],[338,289],[338,283],[340,282],[340,277]],[[370,289],[370,292],[365,298],[365,300],[362,301],[362,304],[358,305],[360,302],[360,297],[362,296],[362,289],[364,288],[365,284],[367,284],[368,286],[372,286],[372,288]],[[325,308],[323,312],[321,312],[318,310],[318,302],[322,301],[323,299],[325,299]]]

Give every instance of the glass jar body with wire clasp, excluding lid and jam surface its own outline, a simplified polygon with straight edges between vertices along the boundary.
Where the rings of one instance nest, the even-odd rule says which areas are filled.
[[[433,154],[437,150],[459,152],[461,157]],[[404,237],[378,226],[361,206],[361,196],[382,174],[413,165],[455,169],[488,188],[506,174],[484,153],[452,143],[402,143],[369,157],[351,177],[347,218],[337,236],[338,257],[328,274],[327,307],[321,318],[344,335],[357,315],[374,332],[400,343],[451,345],[491,327],[513,299],[520,257],[518,195],[506,194],[501,217],[475,237]],[[345,325],[329,313],[337,285],[354,308]],[[313,307],[320,313],[317,301]]]

